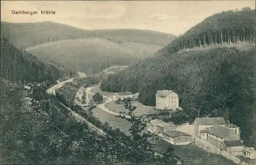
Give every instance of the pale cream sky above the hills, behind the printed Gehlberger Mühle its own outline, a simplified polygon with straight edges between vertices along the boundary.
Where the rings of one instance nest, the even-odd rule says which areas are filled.
[[[255,1],[1,1],[1,21],[52,21],[86,30],[144,29],[180,35],[212,14],[243,7],[255,9]],[[12,10],[38,14],[12,14]],[[41,10],[55,14],[40,14]]]

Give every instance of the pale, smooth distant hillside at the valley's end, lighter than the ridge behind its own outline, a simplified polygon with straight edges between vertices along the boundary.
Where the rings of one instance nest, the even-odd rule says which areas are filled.
[[[87,74],[113,65],[127,65],[152,57],[162,47],[134,42],[115,43],[100,38],[60,40],[26,49],[33,55],[52,60]]]

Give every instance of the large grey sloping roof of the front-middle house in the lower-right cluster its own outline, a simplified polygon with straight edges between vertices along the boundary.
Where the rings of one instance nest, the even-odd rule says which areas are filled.
[[[240,137],[233,130],[223,126],[214,125],[208,130],[208,133],[224,138],[224,140],[240,140]]]

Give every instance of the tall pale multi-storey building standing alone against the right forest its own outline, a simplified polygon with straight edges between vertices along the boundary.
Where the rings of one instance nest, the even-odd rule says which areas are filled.
[[[179,96],[172,90],[158,90],[156,93],[156,109],[179,108]]]

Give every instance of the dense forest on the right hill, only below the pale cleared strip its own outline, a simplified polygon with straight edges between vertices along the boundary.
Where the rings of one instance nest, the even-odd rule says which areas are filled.
[[[179,95],[181,122],[200,116],[224,116],[241,128],[246,145],[255,144],[255,46],[240,51],[216,48],[142,60],[101,83],[105,91],[139,93],[139,102],[155,105],[156,91]],[[173,120],[173,119],[171,119]],[[252,132],[254,131],[254,132]]]

